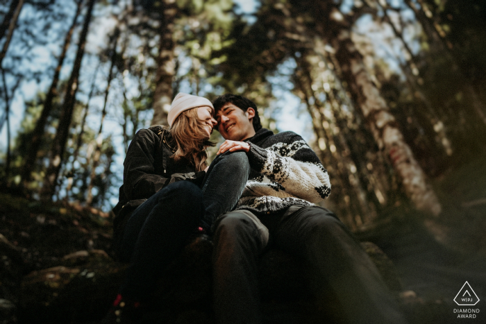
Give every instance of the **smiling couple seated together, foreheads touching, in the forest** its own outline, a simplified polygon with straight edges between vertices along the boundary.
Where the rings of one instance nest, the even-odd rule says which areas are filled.
[[[133,138],[115,207],[115,246],[130,262],[112,323],[135,323],[157,278],[196,233],[212,235],[217,323],[262,323],[258,257],[276,246],[303,259],[317,300],[330,287],[346,323],[405,323],[378,270],[335,214],[326,169],[295,133],[262,128],[255,103],[178,94],[169,129]],[[212,128],[226,139],[208,167]],[[140,302],[142,304],[140,304]]]

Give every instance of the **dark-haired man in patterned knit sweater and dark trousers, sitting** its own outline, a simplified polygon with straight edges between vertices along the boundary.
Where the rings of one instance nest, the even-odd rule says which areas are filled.
[[[326,169],[295,133],[262,128],[255,103],[225,94],[213,101],[218,154],[244,151],[251,167],[235,210],[213,224],[218,323],[262,323],[258,257],[272,245],[301,257],[318,300],[330,287],[346,323],[405,323],[359,242],[332,212],[314,205],[330,193]]]

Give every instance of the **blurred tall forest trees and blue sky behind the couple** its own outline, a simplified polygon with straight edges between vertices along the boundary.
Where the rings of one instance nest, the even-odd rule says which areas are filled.
[[[241,3],[3,1],[3,190],[108,212],[137,130],[178,92],[232,92],[310,134],[351,229],[441,214],[435,181],[486,150],[485,1]]]

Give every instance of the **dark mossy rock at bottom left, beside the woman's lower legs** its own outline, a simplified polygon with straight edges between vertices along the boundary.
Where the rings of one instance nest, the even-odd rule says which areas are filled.
[[[108,311],[125,265],[106,253],[88,251],[63,258],[64,265],[33,271],[22,280],[19,323],[97,321]]]

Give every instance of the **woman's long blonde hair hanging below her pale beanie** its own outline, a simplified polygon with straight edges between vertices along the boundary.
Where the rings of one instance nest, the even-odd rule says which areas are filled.
[[[176,153],[172,155],[174,161],[188,160],[196,167],[196,171],[208,167],[206,148],[215,146],[216,143],[210,142],[204,125],[205,123],[197,117],[197,108],[181,112],[169,128],[177,148]]]

